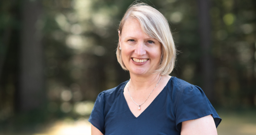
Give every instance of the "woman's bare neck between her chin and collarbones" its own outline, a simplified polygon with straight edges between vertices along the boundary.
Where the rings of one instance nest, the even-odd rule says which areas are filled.
[[[130,74],[131,80],[129,88],[132,87],[133,91],[151,91],[156,84],[159,82],[161,75],[160,74],[150,74],[147,76],[138,76]],[[152,87],[152,89],[151,89]]]

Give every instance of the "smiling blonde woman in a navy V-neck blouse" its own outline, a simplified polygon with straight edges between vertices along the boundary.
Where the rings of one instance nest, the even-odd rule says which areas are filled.
[[[98,95],[92,135],[217,135],[221,119],[201,88],[169,76],[176,49],[165,17],[131,5],[118,33],[117,59],[131,79]]]

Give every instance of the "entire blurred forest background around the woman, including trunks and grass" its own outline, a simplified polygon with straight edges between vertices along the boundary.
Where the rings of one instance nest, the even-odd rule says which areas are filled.
[[[0,135],[89,135],[97,95],[129,79],[115,50],[133,0],[0,1]],[[256,135],[256,1],[150,0],[219,135]]]

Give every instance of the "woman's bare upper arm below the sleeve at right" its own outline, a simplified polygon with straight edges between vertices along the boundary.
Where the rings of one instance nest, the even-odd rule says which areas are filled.
[[[217,135],[212,115],[182,122],[181,135]]]

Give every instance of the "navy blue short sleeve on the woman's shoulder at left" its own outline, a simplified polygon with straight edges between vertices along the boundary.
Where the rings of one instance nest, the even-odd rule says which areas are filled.
[[[101,92],[92,109],[92,113],[88,119],[88,121],[100,130],[102,134],[105,134],[105,121],[104,121],[104,92]]]

